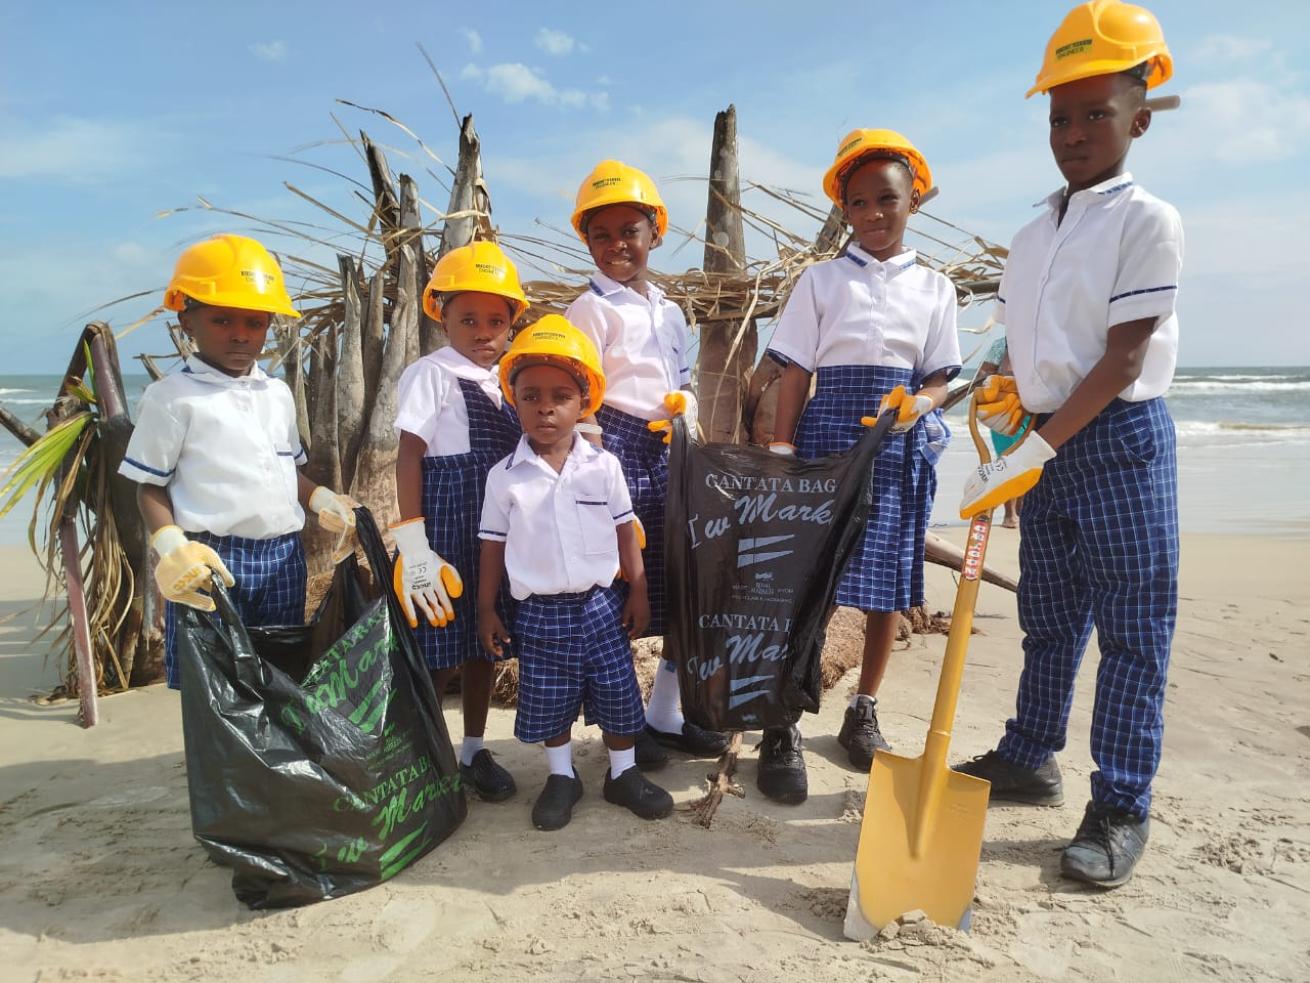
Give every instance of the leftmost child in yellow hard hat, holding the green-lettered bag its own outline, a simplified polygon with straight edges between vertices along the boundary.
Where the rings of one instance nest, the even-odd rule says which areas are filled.
[[[259,354],[272,315],[299,317],[278,261],[245,236],[220,235],[186,249],[164,305],[195,345],[181,372],[147,387],[119,473],[138,482],[155,579],[165,607],[164,667],[181,688],[177,604],[214,611],[204,590],[217,574],[241,620],[303,624],[304,509],[354,535],[354,502],[297,467],[305,452],[291,389],[265,375]]]

